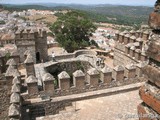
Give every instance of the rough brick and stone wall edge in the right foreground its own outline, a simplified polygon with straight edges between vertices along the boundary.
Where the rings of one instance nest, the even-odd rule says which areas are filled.
[[[140,120],[159,120],[160,118],[160,1],[157,0],[154,12],[150,14],[152,28],[146,54],[149,65],[143,69],[147,80],[139,90],[142,103],[138,106]]]

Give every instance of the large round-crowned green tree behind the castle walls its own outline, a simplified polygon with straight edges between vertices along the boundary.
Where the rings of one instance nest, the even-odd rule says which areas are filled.
[[[89,45],[89,38],[96,26],[84,13],[69,11],[60,16],[50,29],[62,47],[74,52]]]

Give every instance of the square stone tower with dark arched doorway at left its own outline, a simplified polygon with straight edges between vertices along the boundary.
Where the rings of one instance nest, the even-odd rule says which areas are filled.
[[[34,63],[48,60],[47,33],[44,30],[24,29],[15,33],[15,43],[20,53],[20,62],[24,62],[25,51],[29,50]]]

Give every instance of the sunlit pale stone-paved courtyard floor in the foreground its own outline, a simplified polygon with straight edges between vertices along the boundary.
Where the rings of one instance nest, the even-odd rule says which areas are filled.
[[[138,120],[138,90],[73,102],[57,115],[37,120]],[[76,109],[76,112],[75,112]]]

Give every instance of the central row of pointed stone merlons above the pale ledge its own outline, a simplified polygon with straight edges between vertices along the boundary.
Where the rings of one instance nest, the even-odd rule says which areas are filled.
[[[147,65],[146,62],[141,62],[139,64],[116,66],[114,69],[105,66],[102,70],[89,68],[87,71],[78,69],[73,73],[61,71],[57,76],[53,76],[45,69],[42,74],[43,82],[41,87],[43,90],[41,91],[51,97],[56,97],[131,84],[141,81],[141,78],[143,78],[142,68],[145,65]],[[38,89],[39,79],[34,75],[34,68],[27,66],[26,64],[26,69],[29,69],[27,71],[32,71],[33,73],[26,79],[27,96],[35,98],[41,94]]]

